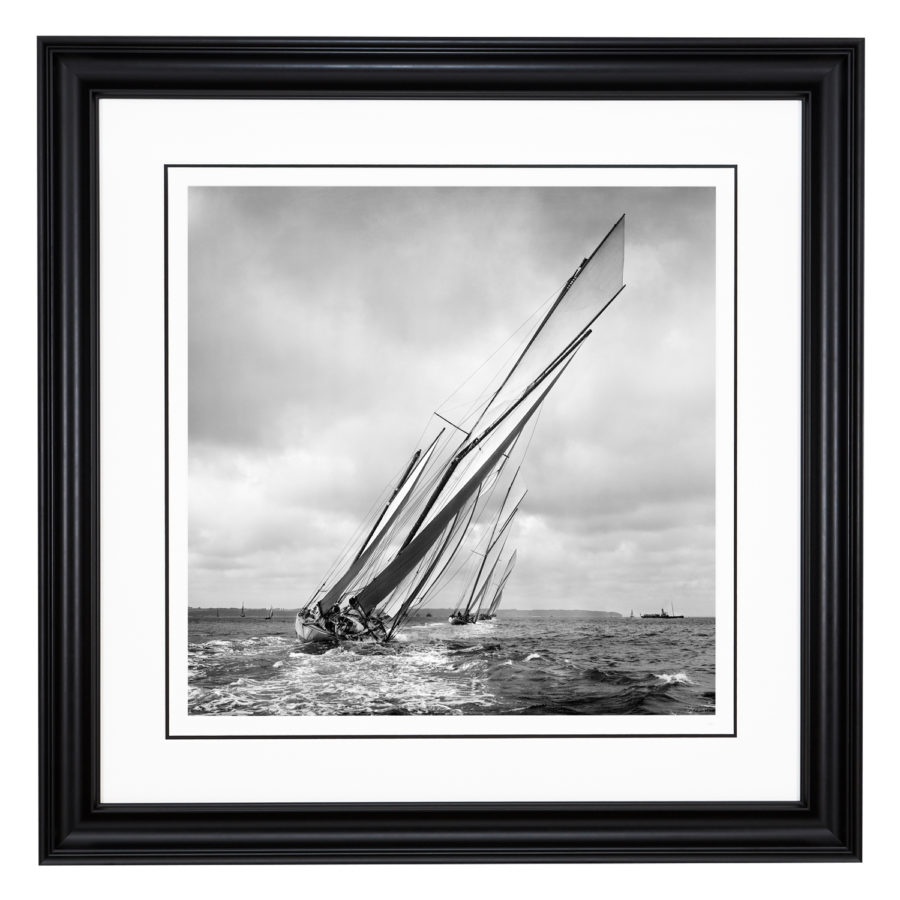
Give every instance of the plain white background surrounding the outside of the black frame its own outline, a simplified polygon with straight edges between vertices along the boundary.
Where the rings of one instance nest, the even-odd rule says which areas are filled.
[[[6,5],[3,14],[4,180],[0,192],[0,597],[5,633],[2,882],[10,897],[216,898],[490,896],[879,896],[896,888],[898,676],[896,510],[900,332],[897,287],[898,29],[891,5],[643,0],[535,4],[155,0]],[[427,36],[863,36],[867,46],[866,258],[866,750],[862,866],[455,866],[44,868],[37,860],[35,46],[37,34]],[[10,579],[10,574],[12,578]]]

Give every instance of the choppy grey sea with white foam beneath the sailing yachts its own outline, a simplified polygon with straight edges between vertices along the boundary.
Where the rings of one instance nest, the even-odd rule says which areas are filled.
[[[519,615],[301,644],[293,617],[189,616],[193,715],[709,715],[715,620]]]

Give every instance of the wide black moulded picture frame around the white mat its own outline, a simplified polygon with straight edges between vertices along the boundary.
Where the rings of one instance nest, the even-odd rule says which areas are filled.
[[[860,859],[863,55],[861,39],[39,38],[40,860]],[[801,101],[799,802],[100,802],[102,97]]]

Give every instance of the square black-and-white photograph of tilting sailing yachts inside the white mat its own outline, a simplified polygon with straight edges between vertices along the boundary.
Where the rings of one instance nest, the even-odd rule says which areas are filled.
[[[188,189],[190,716],[715,714],[716,189],[524,182]]]

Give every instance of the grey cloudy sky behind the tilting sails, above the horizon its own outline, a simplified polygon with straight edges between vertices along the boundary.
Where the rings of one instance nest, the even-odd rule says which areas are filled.
[[[191,188],[190,604],[303,602],[622,213],[627,287],[544,404],[504,605],[711,615],[711,188]]]

